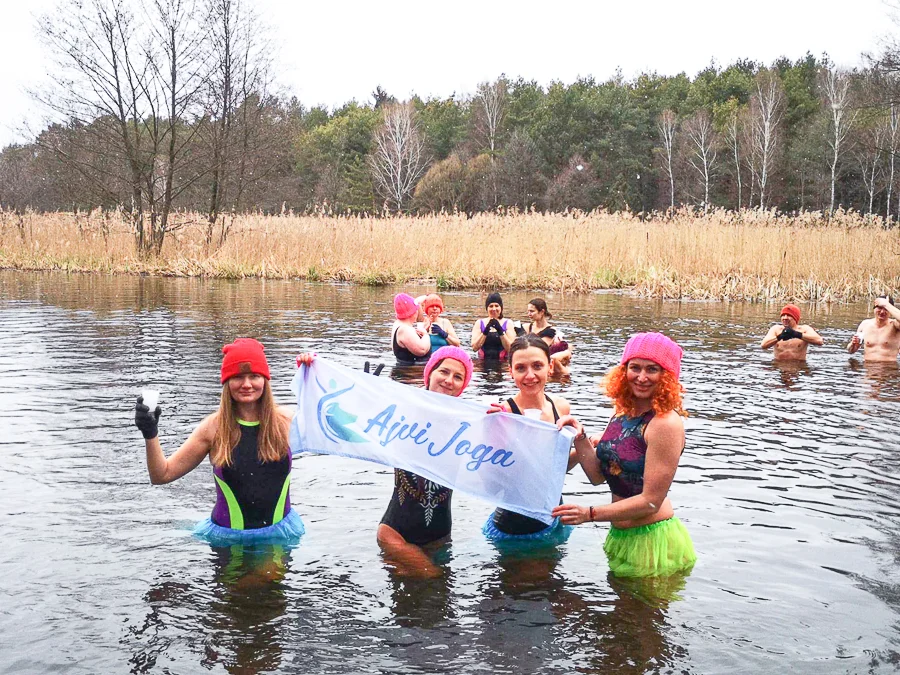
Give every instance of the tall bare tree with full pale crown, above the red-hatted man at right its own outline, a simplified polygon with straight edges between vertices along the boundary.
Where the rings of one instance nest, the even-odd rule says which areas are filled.
[[[756,92],[750,97],[751,173],[759,185],[759,207],[766,208],[769,179],[778,149],[778,127],[784,114],[781,81],[772,71],[762,70],[756,76]]]

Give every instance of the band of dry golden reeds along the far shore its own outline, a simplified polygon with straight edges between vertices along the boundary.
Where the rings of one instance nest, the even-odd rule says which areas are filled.
[[[631,288],[664,298],[851,301],[900,289],[900,230],[838,214],[681,212],[367,218],[238,216],[207,247],[200,215],[178,216],[159,257],[127,223],[95,213],[0,214],[0,267],[300,278],[438,288]]]

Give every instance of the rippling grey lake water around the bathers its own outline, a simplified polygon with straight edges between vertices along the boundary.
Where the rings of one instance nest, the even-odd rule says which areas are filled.
[[[300,351],[390,364],[396,290],[0,272],[0,672],[900,667],[900,373],[844,352],[866,306],[804,307],[826,345],[797,367],[758,347],[780,306],[545,296],[575,349],[571,381],[550,391],[590,430],[609,413],[597,381],[631,333],[685,348],[691,417],[671,498],[699,561],[667,600],[608,578],[605,525],[501,555],[480,532],[492,505],[461,494],[444,576],[398,578],[375,543],[392,472],[336,457],[294,465],[298,547],[192,538],[211,470],[151,486],[134,396],[162,392],[171,452],[217,405],[220,348],[237,336],[266,344],[283,403]],[[482,296],[443,297],[467,336]],[[530,297],[504,294],[507,316]],[[466,396],[512,393],[508,376],[477,372]],[[580,469],[564,494],[608,500]]]

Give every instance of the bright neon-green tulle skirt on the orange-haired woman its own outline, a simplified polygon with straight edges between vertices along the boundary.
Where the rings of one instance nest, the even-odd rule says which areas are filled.
[[[603,544],[617,577],[659,577],[689,572],[697,562],[691,535],[678,518],[627,529],[610,528]]]

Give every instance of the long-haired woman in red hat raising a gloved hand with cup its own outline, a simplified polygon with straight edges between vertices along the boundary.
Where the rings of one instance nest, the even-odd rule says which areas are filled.
[[[208,456],[216,504],[195,534],[217,544],[296,541],[304,527],[291,508],[291,410],[275,404],[262,344],[238,338],[222,353],[219,409],[171,456],[159,443],[162,409],[151,411],[138,398],[134,422],[144,435],[150,482],[171,483]]]

